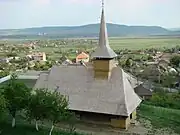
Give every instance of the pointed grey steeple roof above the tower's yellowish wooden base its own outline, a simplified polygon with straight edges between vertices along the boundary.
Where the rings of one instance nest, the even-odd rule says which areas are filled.
[[[102,0],[99,46],[92,54],[92,58],[115,58],[116,56],[117,54],[109,46],[107,27],[104,16],[104,0]]]

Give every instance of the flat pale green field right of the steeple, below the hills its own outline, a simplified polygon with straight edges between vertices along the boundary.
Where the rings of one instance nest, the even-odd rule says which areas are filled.
[[[180,38],[110,38],[113,49],[139,50],[147,48],[172,48],[180,46]]]

